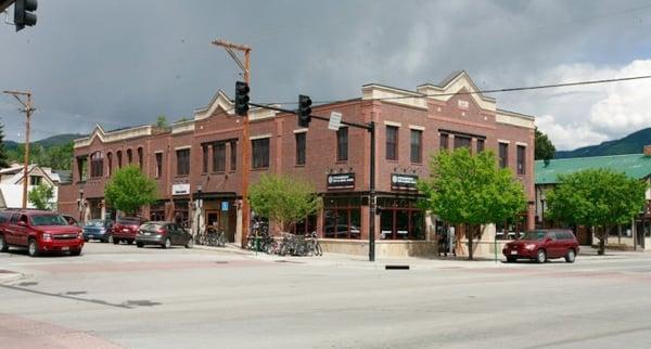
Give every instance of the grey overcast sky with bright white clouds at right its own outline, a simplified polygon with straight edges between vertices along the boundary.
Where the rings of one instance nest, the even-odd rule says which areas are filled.
[[[13,9],[12,9],[13,10]],[[31,89],[35,139],[191,116],[239,68],[216,38],[253,47],[252,99],[413,90],[465,69],[482,89],[651,75],[651,1],[40,0],[0,25],[0,90]],[[651,126],[651,80],[493,94],[537,117],[560,150]],[[5,137],[24,116],[0,96]]]

